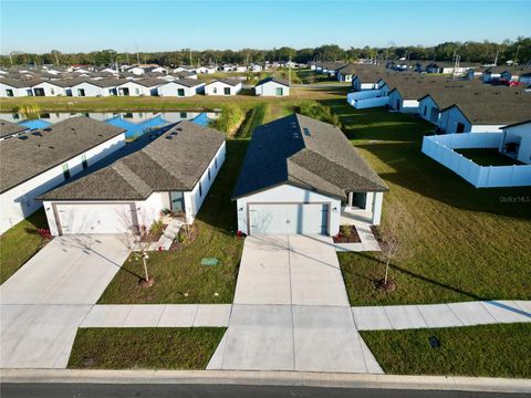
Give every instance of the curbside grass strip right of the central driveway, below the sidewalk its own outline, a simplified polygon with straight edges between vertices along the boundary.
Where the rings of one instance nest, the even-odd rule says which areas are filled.
[[[360,333],[386,374],[531,377],[531,324]]]

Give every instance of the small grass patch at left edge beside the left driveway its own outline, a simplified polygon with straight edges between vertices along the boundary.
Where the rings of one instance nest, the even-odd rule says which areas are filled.
[[[6,282],[45,244],[45,241],[37,233],[40,228],[48,229],[43,209],[19,222],[0,237],[0,283]]]

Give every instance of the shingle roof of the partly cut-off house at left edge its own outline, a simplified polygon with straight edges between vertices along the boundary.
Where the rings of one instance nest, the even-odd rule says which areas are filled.
[[[0,191],[13,188],[124,132],[88,117],[73,117],[51,127],[3,139],[0,142]]]

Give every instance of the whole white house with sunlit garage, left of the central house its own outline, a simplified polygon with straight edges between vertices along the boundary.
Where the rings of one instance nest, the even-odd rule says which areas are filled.
[[[53,235],[135,233],[166,209],[192,223],[225,154],[225,134],[180,122],[144,148],[39,199]]]

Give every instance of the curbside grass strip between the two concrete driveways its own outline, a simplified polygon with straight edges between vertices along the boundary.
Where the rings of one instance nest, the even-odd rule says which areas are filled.
[[[225,327],[80,328],[73,369],[205,369]]]

